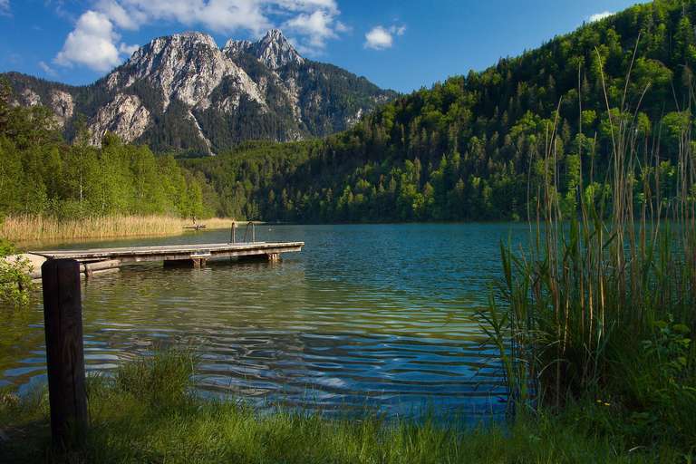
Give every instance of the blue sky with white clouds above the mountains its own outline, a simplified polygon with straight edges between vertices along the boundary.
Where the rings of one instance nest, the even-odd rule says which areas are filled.
[[[480,71],[636,0],[0,0],[0,72],[94,82],[139,45],[186,31],[256,40],[411,92]]]

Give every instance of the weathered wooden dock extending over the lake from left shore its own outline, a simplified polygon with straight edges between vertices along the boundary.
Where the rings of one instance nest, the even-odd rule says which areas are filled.
[[[247,242],[47,250],[31,253],[46,259],[75,259],[82,263],[85,269],[102,262],[143,263],[148,261],[162,261],[165,266],[205,267],[209,259],[220,258],[256,258],[274,262],[280,259],[282,253],[302,251],[302,247],[304,242]]]

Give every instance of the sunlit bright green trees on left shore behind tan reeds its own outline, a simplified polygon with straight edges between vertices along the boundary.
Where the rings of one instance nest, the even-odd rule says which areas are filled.
[[[204,201],[215,196],[206,180],[172,156],[156,156],[111,134],[97,149],[80,129],[67,143],[50,111],[11,102],[9,85],[0,82],[0,218],[214,213]]]

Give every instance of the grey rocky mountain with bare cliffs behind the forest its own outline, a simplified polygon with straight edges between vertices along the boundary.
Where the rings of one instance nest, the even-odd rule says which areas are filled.
[[[106,131],[157,151],[214,154],[243,140],[303,140],[343,131],[397,96],[363,77],[302,57],[281,31],[258,42],[208,34],[160,37],[88,86],[6,73],[17,102],[42,103],[69,138],[83,115],[98,145]]]

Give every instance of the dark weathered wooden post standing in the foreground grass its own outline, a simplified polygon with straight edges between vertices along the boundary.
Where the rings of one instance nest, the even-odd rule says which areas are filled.
[[[80,264],[49,259],[41,276],[53,445],[80,448],[87,432]]]

